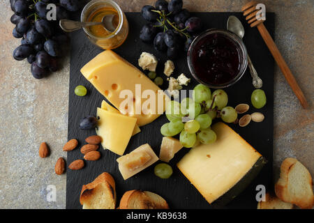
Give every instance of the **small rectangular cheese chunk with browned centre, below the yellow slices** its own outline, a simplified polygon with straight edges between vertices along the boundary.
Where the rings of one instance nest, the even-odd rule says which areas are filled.
[[[119,171],[124,180],[134,176],[156,161],[158,161],[158,157],[149,144],[137,147],[134,151],[117,159]]]

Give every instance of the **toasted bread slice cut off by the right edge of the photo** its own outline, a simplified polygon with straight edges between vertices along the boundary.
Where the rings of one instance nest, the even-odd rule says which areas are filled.
[[[313,207],[313,181],[310,172],[301,162],[286,158],[281,164],[281,175],[275,192],[282,201],[293,203],[299,208]]]

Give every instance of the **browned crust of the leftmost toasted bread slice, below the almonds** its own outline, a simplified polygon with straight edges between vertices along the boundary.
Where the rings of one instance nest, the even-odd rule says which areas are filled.
[[[84,201],[87,201],[87,199],[90,199],[90,197],[93,194],[94,188],[97,187],[98,184],[104,183],[104,182],[110,186],[110,189],[112,191],[112,198],[114,199],[114,205],[115,205],[116,200],[117,200],[116,185],[114,182],[114,178],[106,172],[103,172],[103,174],[100,174],[99,176],[97,176],[93,182],[82,186],[82,191],[80,194],[80,203],[83,205]]]

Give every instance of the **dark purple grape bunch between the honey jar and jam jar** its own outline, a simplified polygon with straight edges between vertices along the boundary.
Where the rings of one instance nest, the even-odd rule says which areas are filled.
[[[143,6],[142,17],[149,21],[140,31],[140,39],[153,43],[167,57],[177,59],[181,50],[188,51],[196,33],[202,31],[202,20],[191,17],[182,0],[158,0],[154,6]]]

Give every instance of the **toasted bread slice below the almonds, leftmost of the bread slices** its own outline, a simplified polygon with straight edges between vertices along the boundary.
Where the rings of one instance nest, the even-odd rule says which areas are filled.
[[[93,182],[83,185],[80,203],[83,209],[114,209],[116,206],[114,178],[104,172]]]

